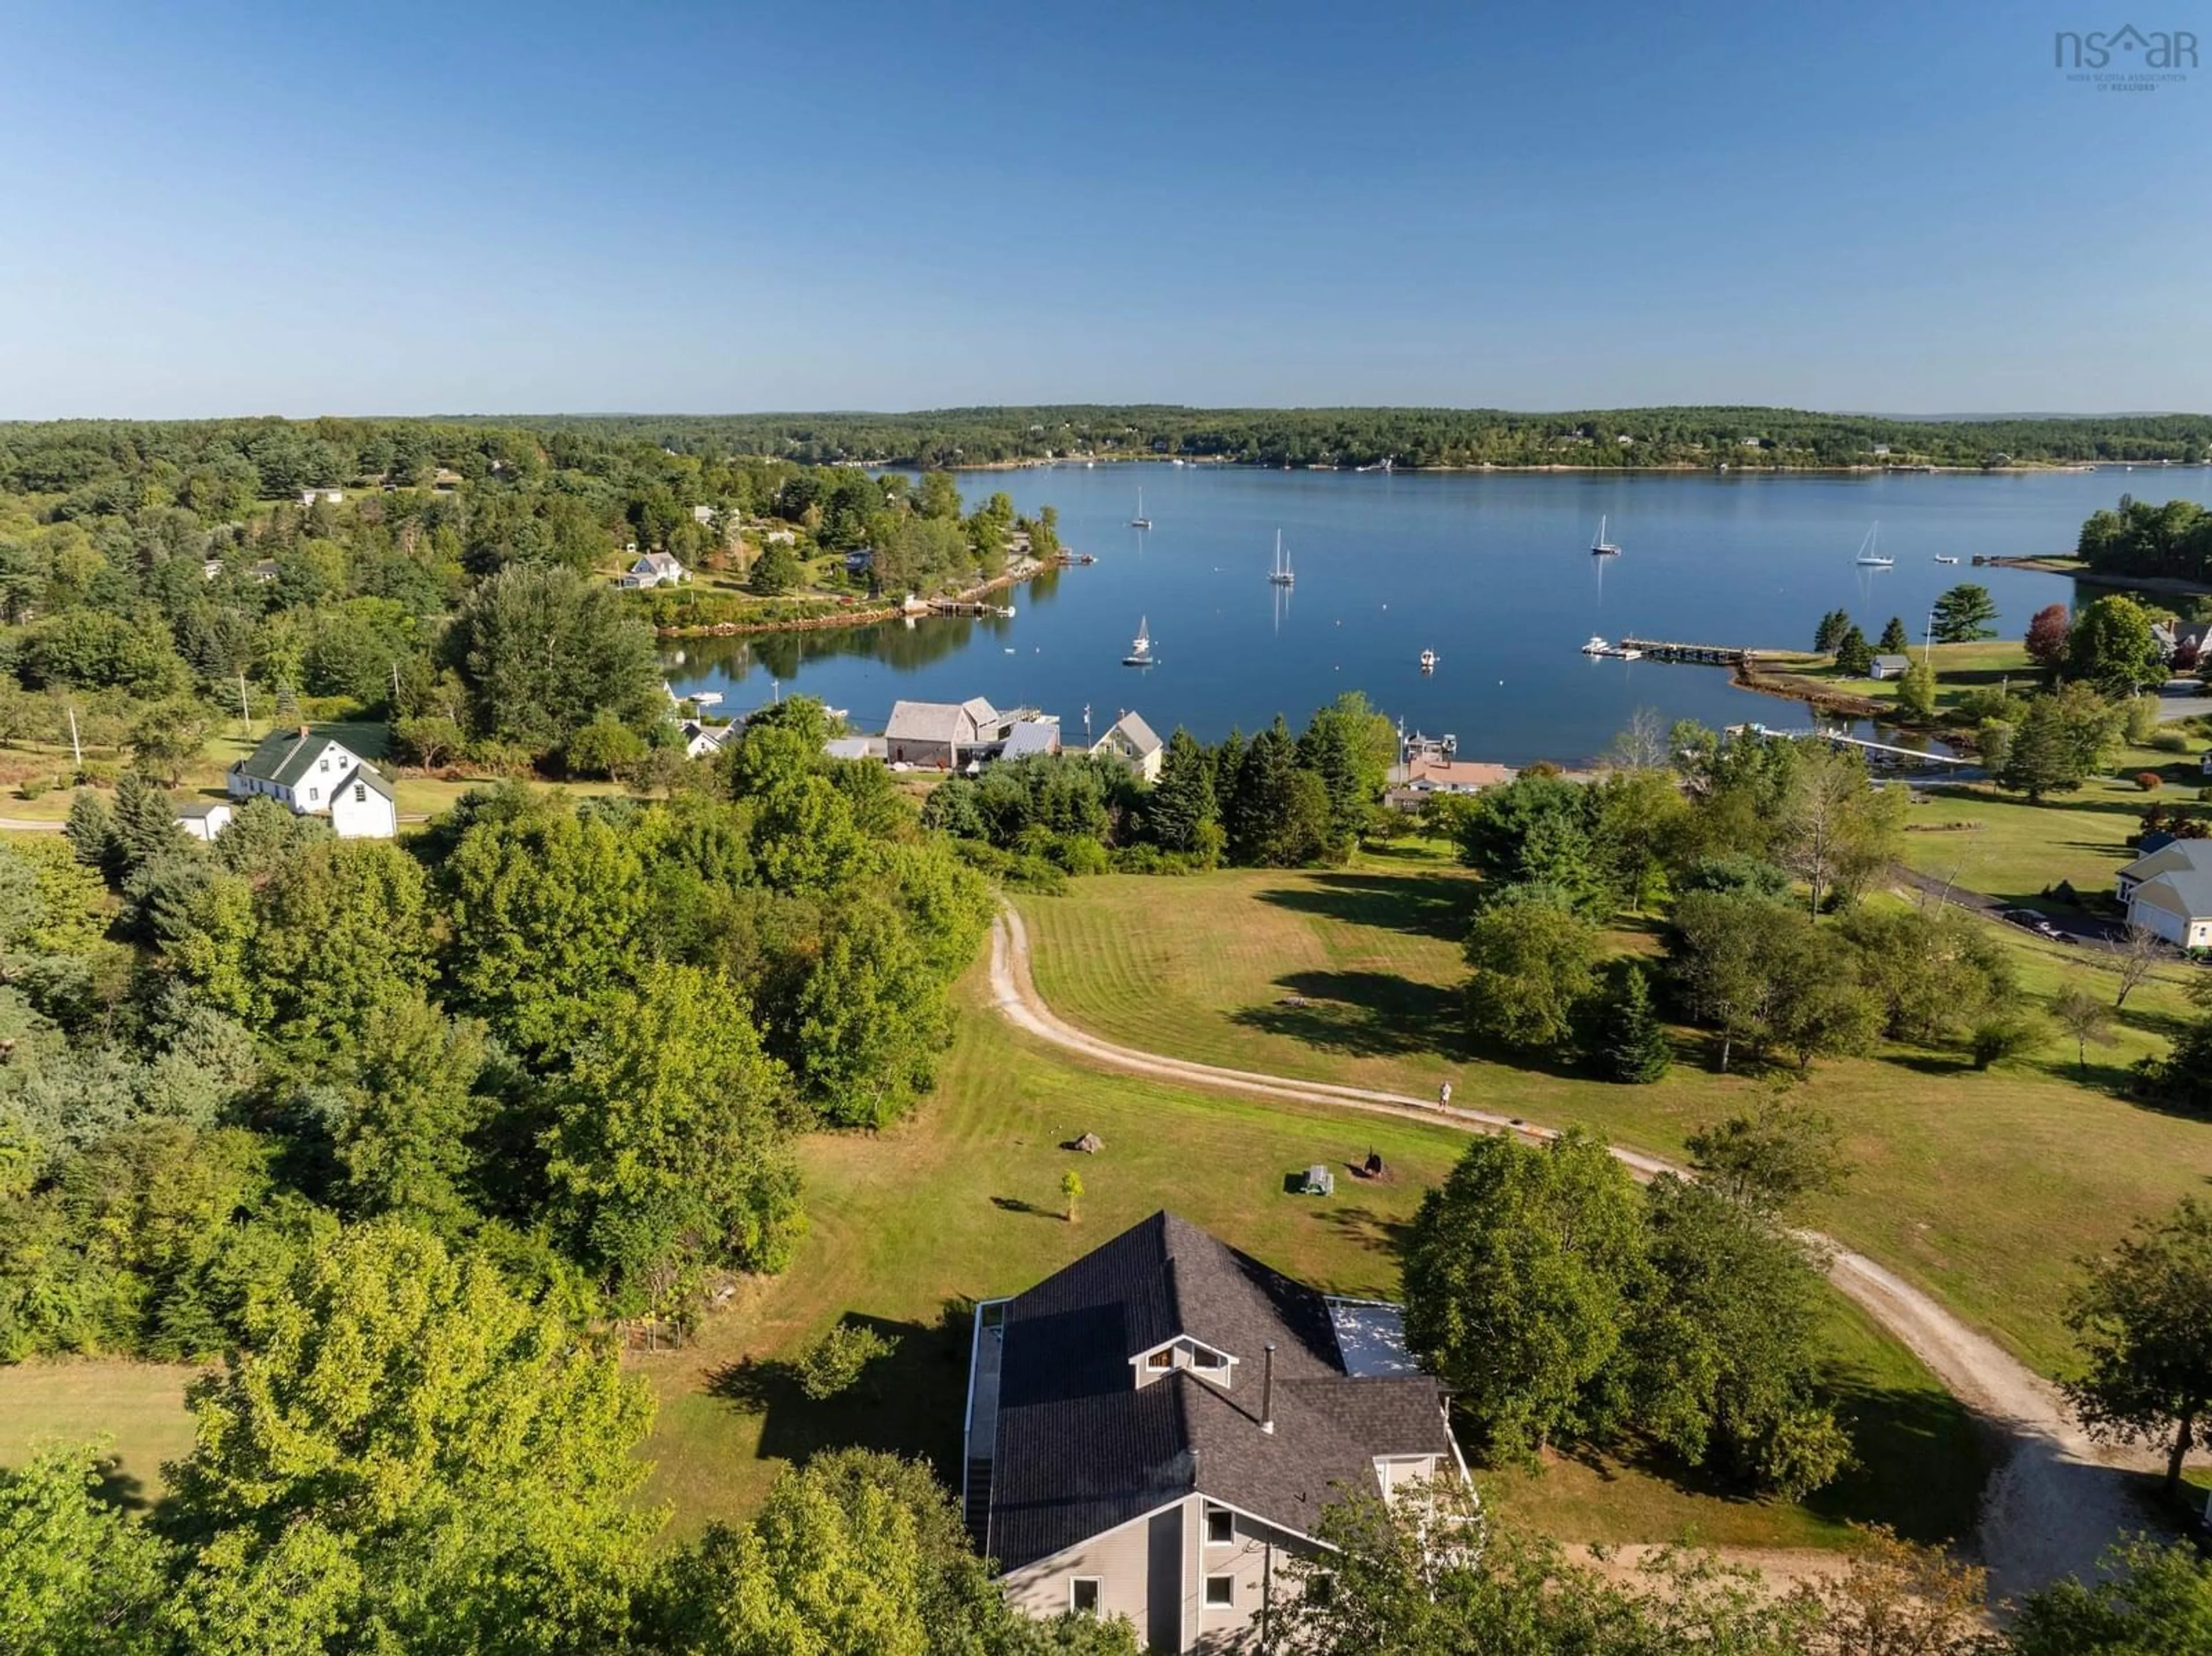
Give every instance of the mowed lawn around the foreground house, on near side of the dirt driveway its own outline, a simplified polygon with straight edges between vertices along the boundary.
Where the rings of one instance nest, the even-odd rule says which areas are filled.
[[[812,1229],[792,1267],[745,1285],[697,1344],[637,1355],[659,1395],[646,1499],[670,1534],[741,1521],[783,1464],[865,1444],[931,1459],[958,1484],[973,1298],[1013,1293],[1157,1207],[1343,1293],[1396,1293],[1394,1238],[1467,1143],[1420,1121],[1192,1094],[1099,1075],[1031,1044],[989,1010],[980,973],[945,1077],[916,1119],[883,1134],[805,1141]],[[1095,1156],[1064,1150],[1097,1132]],[[1352,1176],[1380,1152],[1383,1181]],[[1310,1163],[1336,1196],[1285,1192]],[[1084,1181],[1077,1223],[1060,1178]],[[807,1402],[790,1362],[843,1320],[898,1340],[847,1397]],[[1566,1541],[1847,1545],[1847,1521],[1944,1539],[1971,1521],[1975,1430],[1933,1377],[1843,1300],[1829,1380],[1863,1470],[1803,1506],[1699,1490],[1663,1461],[1557,1461],[1540,1475],[1478,1472],[1484,1497]],[[111,1435],[122,1470],[157,1492],[157,1466],[190,1444],[186,1371],[124,1362],[0,1369],[0,1459],[42,1437]]]

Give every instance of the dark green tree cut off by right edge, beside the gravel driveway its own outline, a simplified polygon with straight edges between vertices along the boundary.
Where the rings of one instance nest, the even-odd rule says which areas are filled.
[[[2212,1207],[2194,1196],[2084,1260],[2066,1307],[2086,1371],[2062,1382],[2095,1437],[2166,1448],[2166,1492],[2212,1408]]]

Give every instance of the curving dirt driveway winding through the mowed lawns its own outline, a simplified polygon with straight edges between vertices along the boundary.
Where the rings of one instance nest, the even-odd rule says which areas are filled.
[[[1230,1070],[1214,1063],[1139,1052],[1075,1028],[1037,995],[1022,915],[1002,909],[991,929],[991,999],[1018,1028],[1113,1070],[1199,1088],[1228,1088],[1243,1097],[1292,1099],[1416,1121],[1447,1119],[1473,1132],[1515,1132],[1531,1141],[1551,1130],[1458,1105],[1374,1088],[1296,1081],[1281,1075]],[[1679,1172],[1674,1163],[1639,1150],[1613,1147],[1639,1178]],[[1989,1568],[1991,1592],[2017,1599],[2059,1576],[2088,1576],[2121,1530],[2146,1528],[2128,1492],[2126,1472],[2157,1461],[2104,1448],[2073,1417],[2042,1375],[1995,1340],[1960,1322],[1944,1307],[1863,1254],[1812,1236],[1829,1256],[1829,1280],[1867,1316],[1896,1335],[1966,1404],[1997,1446],[1997,1470],[1982,1497],[1978,1554]]]

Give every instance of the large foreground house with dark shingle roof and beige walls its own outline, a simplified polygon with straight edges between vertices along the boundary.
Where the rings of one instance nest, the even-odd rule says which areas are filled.
[[[1332,1300],[1172,1214],[975,1311],[964,1508],[1029,1614],[1237,1645],[1316,1512],[1464,1477],[1398,1307]]]

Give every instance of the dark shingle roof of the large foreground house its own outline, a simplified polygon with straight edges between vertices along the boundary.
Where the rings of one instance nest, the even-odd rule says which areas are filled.
[[[1378,1455],[1451,1455],[1429,1375],[1354,1380],[1321,1293],[1155,1214],[1006,1302],[984,1545],[1002,1568],[1190,1492],[1310,1532]],[[1130,1360],[1177,1338],[1237,1358],[1228,1391]],[[1274,1433],[1261,1430],[1274,1344]]]

